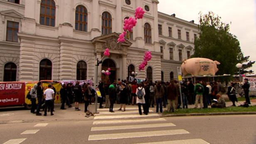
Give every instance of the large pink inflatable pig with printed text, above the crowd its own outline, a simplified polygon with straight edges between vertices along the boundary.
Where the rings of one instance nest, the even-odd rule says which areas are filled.
[[[191,74],[192,76],[204,76],[212,75],[219,70],[217,65],[220,63],[218,61],[212,61],[211,59],[205,58],[192,58],[185,60],[181,65],[181,70],[183,76]]]

